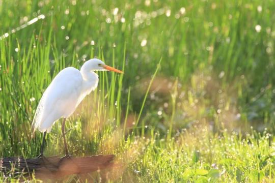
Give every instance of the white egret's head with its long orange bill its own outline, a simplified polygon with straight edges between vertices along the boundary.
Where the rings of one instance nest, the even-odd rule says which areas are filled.
[[[81,67],[81,70],[85,71],[114,71],[117,73],[123,73],[122,71],[115,69],[113,67],[107,66],[102,60],[97,58],[89,59],[84,65]]]

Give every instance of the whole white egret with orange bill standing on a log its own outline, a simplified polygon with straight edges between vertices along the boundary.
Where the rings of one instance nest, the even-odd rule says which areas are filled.
[[[43,93],[32,124],[34,131],[38,129],[44,133],[41,153],[38,158],[43,157],[46,132],[49,133],[53,124],[61,117],[64,118],[62,135],[66,152],[65,157],[69,157],[64,134],[65,121],[85,96],[96,89],[98,75],[94,71],[123,73],[118,69],[105,65],[100,59],[93,58],[85,62],[80,71],[73,67],[60,71]]]

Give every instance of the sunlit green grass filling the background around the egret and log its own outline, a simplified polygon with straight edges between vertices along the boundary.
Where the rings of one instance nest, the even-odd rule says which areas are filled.
[[[73,156],[115,154],[111,182],[275,181],[274,9],[272,0],[0,1],[0,157],[39,154],[31,123],[45,88],[98,57],[125,74],[98,73],[67,120]],[[46,139],[46,156],[64,155],[61,121]],[[0,181],[19,181],[14,172]]]

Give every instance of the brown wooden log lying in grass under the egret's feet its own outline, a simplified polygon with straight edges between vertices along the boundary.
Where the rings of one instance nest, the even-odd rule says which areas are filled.
[[[4,174],[13,172],[24,172],[25,176],[45,178],[61,178],[66,175],[90,173],[96,170],[111,168],[115,155],[97,155],[91,157],[24,159],[23,157],[2,158],[0,170]]]

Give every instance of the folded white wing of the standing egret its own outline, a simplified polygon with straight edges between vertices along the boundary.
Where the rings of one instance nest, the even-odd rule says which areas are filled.
[[[33,120],[34,130],[50,131],[54,121],[68,117],[81,96],[82,76],[75,68],[62,70],[45,90]]]

